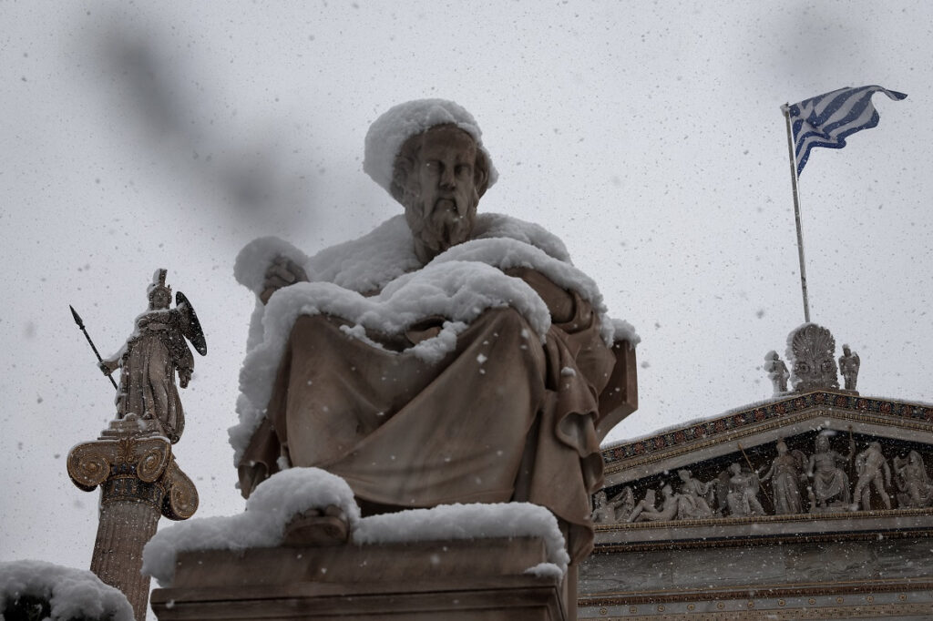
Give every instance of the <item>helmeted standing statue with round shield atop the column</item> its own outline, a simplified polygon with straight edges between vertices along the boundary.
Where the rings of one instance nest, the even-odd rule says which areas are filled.
[[[152,421],[172,443],[185,430],[185,413],[175,387],[175,371],[182,388],[188,387],[194,357],[185,338],[204,355],[207,343],[198,315],[180,291],[172,303],[172,287],[165,284],[165,269],[156,271],[146,291],[149,308],[136,317],[135,329],[123,347],[101,361],[104,375],[120,369],[117,418],[135,414]]]

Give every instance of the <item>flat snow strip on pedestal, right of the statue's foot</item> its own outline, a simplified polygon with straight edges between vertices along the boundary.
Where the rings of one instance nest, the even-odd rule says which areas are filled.
[[[395,544],[451,539],[540,537],[548,560],[562,574],[570,557],[557,519],[530,503],[441,504],[364,517],[353,532],[357,544]]]

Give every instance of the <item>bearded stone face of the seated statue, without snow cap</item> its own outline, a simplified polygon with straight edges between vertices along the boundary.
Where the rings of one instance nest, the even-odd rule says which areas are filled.
[[[404,182],[402,204],[411,233],[432,255],[466,242],[480,202],[477,148],[473,138],[451,125],[440,125],[419,141]]]

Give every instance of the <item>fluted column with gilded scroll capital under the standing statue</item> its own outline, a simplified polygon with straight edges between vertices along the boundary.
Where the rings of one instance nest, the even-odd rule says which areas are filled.
[[[174,462],[169,441],[132,415],[71,449],[68,476],[81,490],[101,488],[91,572],[122,591],[137,621],[144,621],[149,577],[140,573],[143,547],[161,516],[194,514],[198,491]]]

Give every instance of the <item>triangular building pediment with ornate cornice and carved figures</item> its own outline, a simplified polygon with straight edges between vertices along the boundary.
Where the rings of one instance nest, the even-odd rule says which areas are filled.
[[[788,394],[604,449],[597,545],[933,529],[933,407]]]

